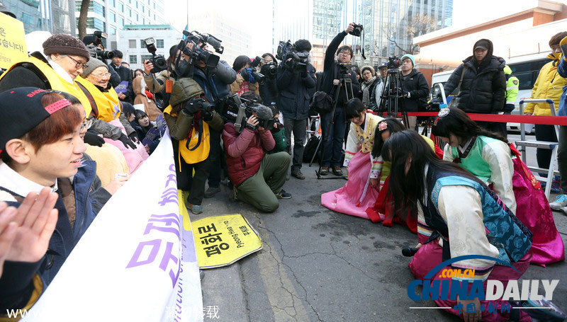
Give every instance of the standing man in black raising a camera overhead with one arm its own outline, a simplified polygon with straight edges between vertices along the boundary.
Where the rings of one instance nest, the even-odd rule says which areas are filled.
[[[344,140],[345,127],[347,126],[347,121],[344,115],[344,105],[347,103],[347,95],[344,88],[340,85],[340,79],[344,77],[351,79],[352,92],[355,95],[360,91],[360,85],[357,79],[357,74],[354,73],[354,71],[350,71],[349,69],[347,74],[342,74],[342,67],[340,67],[340,64],[349,64],[353,56],[353,51],[350,46],[344,45],[339,48],[339,45],[348,33],[352,33],[354,26],[354,23],[350,23],[347,29],[335,36],[325,52],[321,90],[333,98],[335,97],[335,93],[339,91],[339,98],[337,100],[335,115],[332,120],[331,113],[322,113],[321,115],[321,130],[323,144],[325,144],[325,155],[322,157],[321,163],[321,176],[329,174],[329,166],[332,166],[332,173],[335,174],[335,176],[342,176],[340,166],[342,166],[342,142]],[[336,61],[335,53],[337,55]],[[331,127],[327,133],[327,127],[329,127],[329,124],[331,124]]]

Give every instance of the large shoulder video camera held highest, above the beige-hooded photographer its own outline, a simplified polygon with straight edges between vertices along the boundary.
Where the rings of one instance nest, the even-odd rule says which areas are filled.
[[[201,46],[205,43],[213,46],[215,48],[215,52],[222,54],[225,48],[220,45],[222,40],[215,38],[213,35],[209,35],[207,33],[201,34],[197,31],[193,30],[191,33],[187,30],[183,30],[183,34],[186,36],[184,40],[179,42],[179,46],[177,49],[181,50],[186,56],[189,57],[189,63],[193,64],[196,60],[200,60],[206,64],[208,67],[216,67],[220,57],[213,54],[212,52],[208,52],[207,50],[203,50],[203,48],[199,47],[197,44],[201,42]],[[189,43],[193,43],[193,49],[187,47]]]

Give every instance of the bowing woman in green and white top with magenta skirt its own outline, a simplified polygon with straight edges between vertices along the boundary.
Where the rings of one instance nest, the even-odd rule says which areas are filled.
[[[532,233],[532,263],[565,259],[549,203],[520,154],[507,139],[483,130],[459,108],[439,112],[432,132],[446,142],[444,159],[459,163],[490,186]],[[512,151],[510,151],[512,149]]]

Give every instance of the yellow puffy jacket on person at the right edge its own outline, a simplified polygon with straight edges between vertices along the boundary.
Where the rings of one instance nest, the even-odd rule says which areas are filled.
[[[553,61],[541,67],[534,88],[532,89],[532,98],[549,98],[554,100],[555,110],[557,111],[559,108],[559,98],[561,98],[561,94],[563,93],[563,86],[567,85],[567,79],[561,77],[557,71],[561,54],[549,54],[547,58],[553,59]],[[524,112],[532,113],[533,115],[551,115],[548,103],[526,104]]]

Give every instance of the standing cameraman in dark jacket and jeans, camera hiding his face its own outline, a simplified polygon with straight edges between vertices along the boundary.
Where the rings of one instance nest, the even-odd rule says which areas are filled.
[[[291,133],[293,132],[293,164],[291,176],[305,179],[301,173],[307,118],[309,117],[310,88],[315,88],[315,68],[307,59],[311,51],[309,40],[300,39],[293,44],[299,54],[283,57],[277,74],[279,89],[278,108],[283,113],[283,128],[286,131],[287,151],[291,155]],[[304,57],[297,60],[294,57]]]

